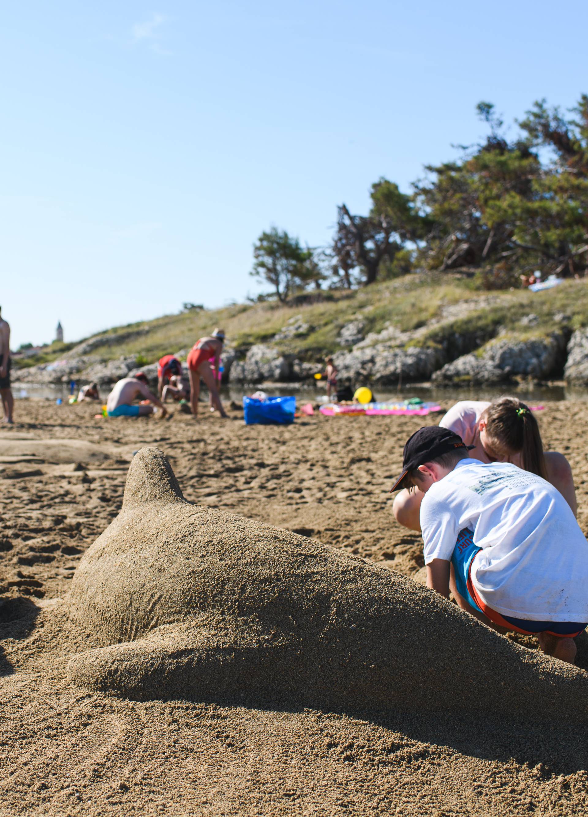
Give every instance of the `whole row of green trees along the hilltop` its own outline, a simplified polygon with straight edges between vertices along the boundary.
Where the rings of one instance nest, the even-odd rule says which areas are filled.
[[[275,228],[256,244],[253,275],[284,301],[311,285],[350,289],[412,270],[477,272],[483,288],[518,287],[540,270],[562,277],[588,267],[588,96],[563,114],[536,102],[512,141],[488,102],[482,144],[425,166],[404,194],[381,178],[367,215],[337,208],[332,244],[303,250]]]

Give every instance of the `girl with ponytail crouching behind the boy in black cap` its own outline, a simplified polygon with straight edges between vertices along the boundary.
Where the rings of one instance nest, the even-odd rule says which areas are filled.
[[[474,446],[470,457],[480,462],[512,462],[554,485],[577,512],[576,491],[568,460],[557,451],[543,451],[541,432],[531,409],[516,397],[493,403],[461,400],[449,409],[439,426],[455,431],[466,445]],[[421,530],[419,511],[422,493],[401,491],[392,512],[400,525]]]

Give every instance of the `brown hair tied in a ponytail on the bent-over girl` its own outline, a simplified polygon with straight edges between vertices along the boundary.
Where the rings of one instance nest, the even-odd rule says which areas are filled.
[[[497,447],[521,453],[525,471],[547,478],[539,424],[531,409],[516,397],[501,397],[483,413],[486,434]]]

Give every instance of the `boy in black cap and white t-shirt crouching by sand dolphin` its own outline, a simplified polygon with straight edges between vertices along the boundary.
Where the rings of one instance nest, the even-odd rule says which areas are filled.
[[[536,635],[573,663],[588,623],[588,542],[568,502],[511,462],[483,463],[447,428],[427,426],[404,446],[392,491],[422,493],[427,587],[489,626]],[[565,547],[562,547],[562,543]]]

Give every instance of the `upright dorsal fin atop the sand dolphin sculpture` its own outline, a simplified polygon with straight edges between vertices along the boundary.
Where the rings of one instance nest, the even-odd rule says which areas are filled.
[[[140,449],[131,462],[122,507],[145,502],[185,502],[176,475],[163,452],[154,446]]]

